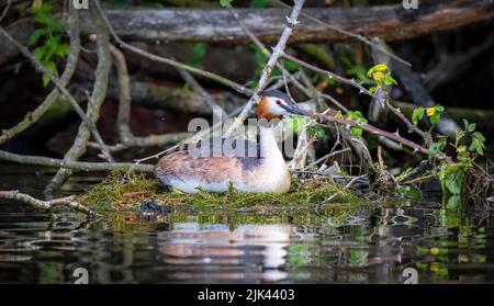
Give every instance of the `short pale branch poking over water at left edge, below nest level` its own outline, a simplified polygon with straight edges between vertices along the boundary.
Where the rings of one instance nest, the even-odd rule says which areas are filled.
[[[78,203],[75,201],[75,195],[60,197],[60,199],[54,199],[50,201],[42,201],[37,200],[29,194],[21,193],[18,190],[11,190],[11,191],[0,191],[0,199],[7,199],[7,200],[15,200],[20,202],[24,202],[33,207],[41,208],[41,209],[52,209],[55,206],[65,206],[69,207],[70,209],[83,213],[86,215],[93,215],[94,212],[86,207],[85,205]]]

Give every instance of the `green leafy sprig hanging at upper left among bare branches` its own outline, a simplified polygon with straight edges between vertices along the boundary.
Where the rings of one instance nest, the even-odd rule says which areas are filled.
[[[34,21],[38,25],[30,36],[29,45],[36,46],[34,57],[38,59],[53,75],[58,76],[56,58],[64,58],[69,54],[70,46],[63,42],[65,25],[52,14],[53,5],[43,3],[41,7],[32,7]],[[49,82],[48,76],[43,76],[43,86]]]

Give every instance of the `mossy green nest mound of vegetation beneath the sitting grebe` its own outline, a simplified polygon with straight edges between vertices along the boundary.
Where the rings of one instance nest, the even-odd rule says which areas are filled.
[[[336,194],[336,195],[335,195]],[[231,190],[225,193],[200,191],[194,194],[167,192],[160,183],[145,173],[115,170],[90,191],[77,197],[96,212],[137,212],[142,203],[153,199],[157,205],[168,206],[175,212],[188,209],[229,209],[245,213],[262,213],[291,209],[313,212],[315,205],[332,197],[330,209],[338,206],[357,206],[364,199],[344,190],[329,179],[310,179],[303,182],[293,179],[290,192],[245,193]],[[351,203],[351,204],[348,204]]]

